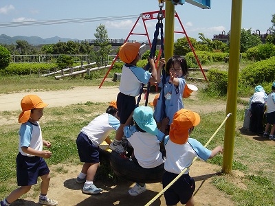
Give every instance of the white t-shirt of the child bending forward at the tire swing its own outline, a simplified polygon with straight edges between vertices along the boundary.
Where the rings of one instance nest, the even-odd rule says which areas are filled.
[[[117,118],[108,113],[103,113],[83,127],[80,132],[87,135],[91,142],[98,146],[110,135],[112,130],[118,130],[119,126],[120,121]]]

